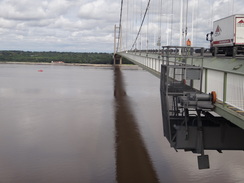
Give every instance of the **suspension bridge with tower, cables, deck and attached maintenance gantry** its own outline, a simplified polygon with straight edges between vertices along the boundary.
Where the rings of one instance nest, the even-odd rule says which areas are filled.
[[[201,46],[194,34],[200,6],[122,0],[114,64],[126,58],[160,78],[164,136],[176,150],[200,154],[199,169],[205,169],[204,150],[244,150],[244,57],[213,57]]]

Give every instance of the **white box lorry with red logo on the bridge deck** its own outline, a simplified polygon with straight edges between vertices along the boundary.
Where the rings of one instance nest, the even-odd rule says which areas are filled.
[[[235,56],[244,53],[244,14],[231,15],[213,22],[213,32],[206,35],[210,52]]]

